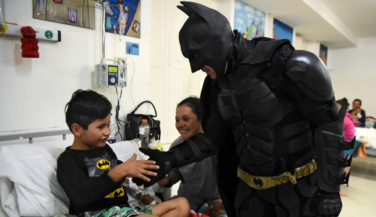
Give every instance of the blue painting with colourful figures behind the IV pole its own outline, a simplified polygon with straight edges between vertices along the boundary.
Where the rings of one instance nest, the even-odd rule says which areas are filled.
[[[124,35],[140,38],[141,36],[141,0],[106,0],[106,32],[118,34],[120,31],[118,2],[123,2]]]

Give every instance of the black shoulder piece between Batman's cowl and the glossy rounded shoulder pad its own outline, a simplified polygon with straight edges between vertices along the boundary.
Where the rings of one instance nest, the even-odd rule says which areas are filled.
[[[276,50],[280,48],[280,46],[290,44],[290,41],[288,39],[275,40],[271,38],[260,37],[254,38],[252,40],[255,41],[256,46],[250,53],[250,55],[247,56],[247,58],[244,59],[244,61],[242,61],[241,63],[252,65],[267,63],[270,61]]]

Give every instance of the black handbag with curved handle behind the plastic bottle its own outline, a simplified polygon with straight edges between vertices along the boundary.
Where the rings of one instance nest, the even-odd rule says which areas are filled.
[[[153,106],[155,115],[135,114],[137,109],[144,103],[150,103]],[[157,117],[157,110],[152,102],[144,101],[136,106],[135,110],[130,112],[130,114],[127,114],[127,122],[124,127],[125,140],[139,138],[138,127],[143,119],[147,120],[147,124],[149,124],[150,127],[149,141],[152,138],[155,138],[155,140],[161,140],[161,121],[154,120],[155,117]]]

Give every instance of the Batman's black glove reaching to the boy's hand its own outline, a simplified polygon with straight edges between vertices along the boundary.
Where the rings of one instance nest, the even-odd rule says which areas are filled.
[[[135,183],[137,186],[144,185],[144,188],[150,187],[154,185],[156,182],[161,181],[164,179],[176,164],[176,159],[174,155],[169,152],[162,152],[158,149],[146,149],[146,148],[139,148],[140,152],[146,154],[150,158],[149,161],[155,161],[156,164],[159,166],[158,170],[150,170],[152,172],[157,173],[157,176],[149,176],[145,175],[147,178],[150,179],[150,182],[144,181],[140,178],[132,178],[132,182]]]

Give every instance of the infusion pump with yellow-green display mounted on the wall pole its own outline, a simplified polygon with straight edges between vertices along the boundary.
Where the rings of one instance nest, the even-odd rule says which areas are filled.
[[[107,64],[107,61],[117,64]],[[123,61],[116,59],[105,59],[100,64],[95,65],[94,83],[97,86],[127,86],[127,65]]]

